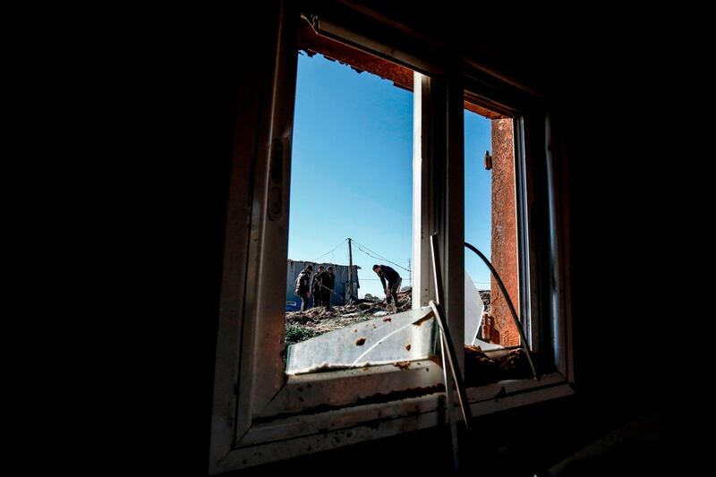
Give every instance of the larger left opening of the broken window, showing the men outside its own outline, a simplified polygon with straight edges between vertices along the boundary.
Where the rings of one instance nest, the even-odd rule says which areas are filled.
[[[413,72],[321,39],[304,25],[291,161],[286,372],[428,359],[437,331],[432,321],[422,325],[427,307],[411,311]]]

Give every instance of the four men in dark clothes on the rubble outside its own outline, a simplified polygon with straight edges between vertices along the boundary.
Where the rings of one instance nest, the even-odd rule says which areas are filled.
[[[403,279],[398,275],[396,270],[388,267],[388,265],[373,265],[373,271],[380,278],[383,285],[383,291],[386,294],[386,304],[392,302],[398,306],[397,293],[400,291],[400,284]],[[320,265],[319,272],[311,280],[313,266],[309,265],[301,270],[296,277],[296,289],[294,294],[301,297],[301,311],[308,310],[309,299],[313,296],[313,306],[323,306],[326,310],[330,310],[330,298],[333,294],[333,288],[336,285],[336,276],[333,274],[333,267],[328,266],[324,271],[323,265]]]

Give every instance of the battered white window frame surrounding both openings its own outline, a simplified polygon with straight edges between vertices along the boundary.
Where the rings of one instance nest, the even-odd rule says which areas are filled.
[[[209,450],[209,473],[222,473],[256,464],[317,452],[332,447],[387,437],[407,430],[425,429],[440,422],[440,393],[436,389],[441,371],[434,362],[413,363],[408,371],[394,366],[333,371],[286,378],[281,366],[284,353],[284,283],[286,273],[291,141],[294,118],[294,92],[297,62],[297,28],[300,15],[295,4],[277,1],[275,44],[266,51],[266,61],[248,72],[246,84],[254,90],[243,91],[243,99],[255,106],[255,115],[236,128],[229,207],[226,219],[226,246],[221,307],[218,317],[217,357],[214,404]],[[431,282],[429,238],[438,232],[445,309],[456,343],[464,335],[464,150],[463,101],[465,84],[470,85],[470,64],[434,64],[409,52],[396,53],[376,38],[354,34],[330,21],[346,42],[379,55],[391,55],[421,71],[414,76],[415,147],[413,150],[413,303],[426,304],[434,297]],[[465,71],[464,71],[465,70]],[[424,74],[423,74],[424,73]],[[491,78],[491,80],[495,80]],[[498,81],[499,82],[499,81]],[[264,102],[251,101],[260,91]],[[270,100],[266,99],[270,98]],[[530,153],[524,149],[525,118],[516,116],[516,174],[525,181],[530,176]],[[542,116],[543,119],[543,116]],[[536,121],[536,120],[535,120]],[[537,128],[547,131],[547,128]],[[518,141],[518,137],[520,141]],[[535,141],[533,143],[536,143]],[[535,158],[540,155],[535,154]],[[535,159],[533,162],[538,162]],[[549,154],[547,173],[554,175]],[[551,177],[551,176],[550,176]],[[559,236],[558,183],[550,178],[549,273],[555,278],[550,288],[554,300],[544,305],[543,290],[535,286],[541,277],[529,268],[520,276],[521,291],[529,299],[521,300],[523,316],[539,316],[549,310],[550,322],[558,331],[553,347],[558,354],[558,371],[539,381],[522,379],[471,388],[468,397],[473,415],[493,413],[572,393],[567,363],[567,302],[562,288],[564,251]],[[518,177],[518,181],[520,179]],[[531,196],[538,187],[525,183],[526,194],[517,194],[517,209],[524,213],[518,222],[524,234],[542,233],[527,227],[528,210],[539,197]],[[537,194],[539,195],[539,194]],[[555,217],[557,216],[557,217]],[[533,225],[534,226],[534,225]],[[520,229],[519,227],[524,227]],[[530,248],[533,241],[520,245],[520,258],[531,263],[544,251]],[[526,285],[523,285],[523,281]],[[523,297],[521,297],[523,298]],[[561,304],[560,304],[561,303]],[[526,314],[525,314],[526,313]],[[530,328],[533,348],[541,342],[538,326]],[[458,346],[458,362],[463,349]],[[464,367],[463,367],[464,369]],[[401,394],[411,388],[423,388],[423,396]],[[301,393],[311,390],[313,407],[305,404]],[[395,396],[390,397],[391,393]],[[356,405],[361,398],[385,395],[387,399]],[[325,396],[329,408],[317,409],[317,396]],[[292,412],[286,413],[286,409]],[[304,413],[307,409],[310,413]],[[283,411],[282,411],[283,410]],[[456,410],[456,419],[459,412]]]

